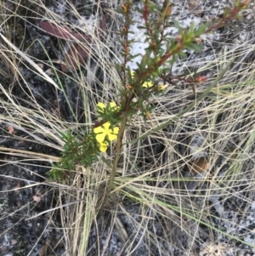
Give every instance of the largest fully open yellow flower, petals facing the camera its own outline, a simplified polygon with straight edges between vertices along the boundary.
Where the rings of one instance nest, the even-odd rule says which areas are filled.
[[[117,138],[117,134],[119,133],[120,128],[115,127],[111,129],[111,123],[105,122],[103,125],[94,128],[94,133],[96,134],[96,139],[99,143],[105,141],[105,137],[108,136],[110,141],[115,140]]]

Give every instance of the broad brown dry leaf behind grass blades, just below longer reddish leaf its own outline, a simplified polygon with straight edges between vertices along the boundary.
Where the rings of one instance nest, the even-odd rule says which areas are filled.
[[[91,43],[91,40],[90,42]],[[80,65],[86,64],[89,56],[88,48],[82,47],[80,43],[73,43],[65,54],[66,64],[61,64],[61,71],[76,71]]]

